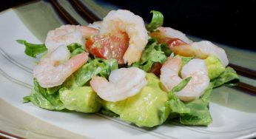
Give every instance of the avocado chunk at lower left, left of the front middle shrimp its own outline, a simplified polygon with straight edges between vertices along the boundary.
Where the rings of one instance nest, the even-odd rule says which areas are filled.
[[[61,88],[60,99],[65,108],[77,112],[98,112],[101,109],[101,99],[91,87]]]

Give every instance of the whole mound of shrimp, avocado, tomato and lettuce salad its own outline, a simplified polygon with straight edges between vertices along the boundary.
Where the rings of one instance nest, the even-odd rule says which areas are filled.
[[[147,25],[128,10],[113,10],[88,27],[51,30],[45,44],[17,40],[26,55],[38,58],[24,103],[52,111],[99,112],[146,127],[174,120],[212,123],[212,89],[239,81],[226,67],[225,51],[162,27],[164,16],[151,13]]]

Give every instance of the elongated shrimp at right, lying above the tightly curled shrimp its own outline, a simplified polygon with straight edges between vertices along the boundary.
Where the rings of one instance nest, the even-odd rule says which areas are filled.
[[[210,41],[193,42],[192,44],[182,44],[171,46],[172,52],[183,56],[195,56],[197,58],[207,58],[209,55],[215,55],[220,59],[224,67],[229,64],[225,50],[212,44]]]

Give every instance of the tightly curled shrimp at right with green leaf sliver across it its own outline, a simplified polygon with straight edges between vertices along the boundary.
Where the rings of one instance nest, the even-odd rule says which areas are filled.
[[[198,58],[189,61],[182,69],[181,65],[181,58],[169,58],[161,68],[160,80],[170,91],[182,81],[182,78],[192,77],[186,87],[175,92],[175,95],[182,101],[192,101],[199,98],[209,86],[208,70],[204,61]],[[180,69],[182,78],[178,76]]]

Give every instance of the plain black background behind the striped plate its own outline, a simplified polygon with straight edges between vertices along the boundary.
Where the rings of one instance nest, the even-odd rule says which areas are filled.
[[[8,0],[1,2],[0,10],[31,1]],[[210,41],[254,50],[256,41],[256,1],[220,0],[169,0],[169,1],[132,1],[105,0],[131,10],[151,21],[150,10],[164,14],[164,26],[181,30]]]

